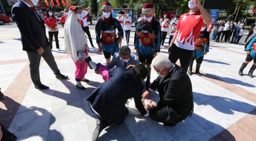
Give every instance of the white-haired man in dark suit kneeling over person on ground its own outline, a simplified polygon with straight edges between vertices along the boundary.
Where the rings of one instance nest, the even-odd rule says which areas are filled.
[[[172,64],[165,56],[154,58],[152,65],[159,76],[142,97],[147,98],[158,89],[160,101],[157,107],[149,111],[149,116],[163,125],[175,126],[193,113],[190,78],[180,66]]]

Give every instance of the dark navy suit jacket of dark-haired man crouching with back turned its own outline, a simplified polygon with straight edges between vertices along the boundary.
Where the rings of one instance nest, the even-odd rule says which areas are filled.
[[[134,77],[132,71],[121,66],[108,81],[96,88],[87,100],[106,121],[120,125],[128,114],[125,107],[127,99],[134,98],[135,106],[141,115],[147,114],[141,103],[142,90],[141,81]]]

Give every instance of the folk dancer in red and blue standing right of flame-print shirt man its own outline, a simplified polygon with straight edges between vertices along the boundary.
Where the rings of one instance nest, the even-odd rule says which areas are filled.
[[[193,62],[194,62],[194,60],[197,60],[197,66],[196,66],[195,73],[198,76],[201,76],[199,70],[200,70],[202,61],[204,59],[204,51],[209,52],[209,45],[210,45],[209,38],[210,38],[209,31],[207,31],[206,27],[202,27],[201,32],[197,38],[197,42],[195,44],[195,50],[193,52],[193,58],[189,65],[189,71],[187,72],[189,75],[192,75]]]

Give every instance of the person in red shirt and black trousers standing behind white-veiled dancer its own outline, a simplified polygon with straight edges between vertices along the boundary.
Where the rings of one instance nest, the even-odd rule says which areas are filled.
[[[52,39],[54,36],[56,48],[58,49],[58,51],[60,51],[59,40],[58,40],[59,31],[57,28],[58,22],[57,22],[57,19],[54,17],[54,14],[52,13],[52,9],[46,10],[45,24],[48,27],[50,48],[52,49]]]

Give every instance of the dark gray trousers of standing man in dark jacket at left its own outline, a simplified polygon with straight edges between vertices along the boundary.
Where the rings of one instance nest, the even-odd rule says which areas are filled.
[[[50,50],[50,47],[44,49],[44,52],[42,54],[39,54],[37,51],[27,51],[27,54],[28,60],[30,61],[30,77],[34,85],[42,84],[39,75],[41,57],[44,58],[44,60],[46,61],[50,69],[52,69],[54,74],[60,73],[56,61],[54,60],[54,56],[52,55],[52,51]]]

